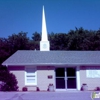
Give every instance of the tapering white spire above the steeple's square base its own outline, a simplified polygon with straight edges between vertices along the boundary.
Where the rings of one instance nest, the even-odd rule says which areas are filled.
[[[42,13],[42,41],[48,41],[44,6]]]

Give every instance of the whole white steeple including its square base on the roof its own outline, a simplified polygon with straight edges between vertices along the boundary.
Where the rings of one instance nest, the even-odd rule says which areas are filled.
[[[45,19],[45,11],[44,11],[44,6],[43,6],[43,12],[42,12],[42,36],[41,36],[41,41],[40,41],[40,51],[49,51],[49,50],[50,50],[50,43],[48,41],[46,19]]]

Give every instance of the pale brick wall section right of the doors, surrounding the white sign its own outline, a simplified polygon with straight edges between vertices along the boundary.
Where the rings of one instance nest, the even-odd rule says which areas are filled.
[[[89,66],[91,70],[98,69],[100,71],[100,66]],[[82,86],[83,83],[88,85],[89,90],[94,90],[96,87],[100,87],[100,77],[87,77],[87,70],[88,66],[81,66],[80,67],[80,84]],[[95,69],[94,69],[95,68]]]

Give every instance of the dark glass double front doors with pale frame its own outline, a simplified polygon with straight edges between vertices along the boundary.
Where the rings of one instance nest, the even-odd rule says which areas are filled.
[[[76,68],[56,68],[56,89],[76,89]]]

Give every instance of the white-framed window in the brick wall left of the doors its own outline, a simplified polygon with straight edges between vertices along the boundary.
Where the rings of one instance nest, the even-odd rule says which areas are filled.
[[[37,84],[36,67],[26,67],[25,85],[36,85],[36,84]]]

